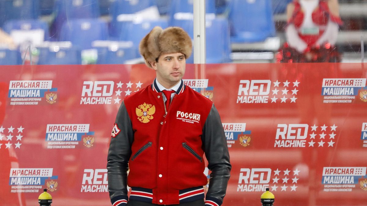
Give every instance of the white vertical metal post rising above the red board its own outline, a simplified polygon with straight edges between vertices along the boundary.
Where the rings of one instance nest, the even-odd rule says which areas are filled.
[[[194,64],[205,64],[205,0],[194,4]]]

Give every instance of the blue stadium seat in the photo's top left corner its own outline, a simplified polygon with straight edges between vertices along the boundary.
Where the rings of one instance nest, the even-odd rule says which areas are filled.
[[[0,27],[11,19],[37,19],[40,15],[39,0],[1,0]]]

